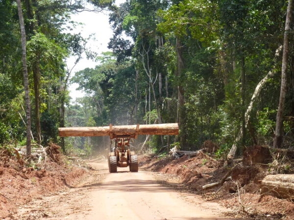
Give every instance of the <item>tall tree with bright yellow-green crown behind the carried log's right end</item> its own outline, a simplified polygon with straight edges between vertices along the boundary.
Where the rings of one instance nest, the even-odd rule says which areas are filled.
[[[161,22],[157,28],[164,33],[164,41],[172,44],[176,52],[176,64],[169,67],[173,68],[169,78],[173,99],[177,99],[180,143],[183,148],[194,148],[201,145],[203,139],[210,138],[200,125],[209,118],[208,112],[213,112],[210,104],[216,103],[218,97],[214,91],[222,91],[220,88],[208,88],[219,85],[213,75],[217,45],[214,42],[218,42],[220,29],[218,7],[215,1],[174,1],[168,10],[159,10],[158,15]],[[205,95],[205,100],[201,99],[201,94],[206,92],[200,88],[215,95]],[[221,102],[221,98],[218,101]],[[202,135],[202,132],[206,134]]]

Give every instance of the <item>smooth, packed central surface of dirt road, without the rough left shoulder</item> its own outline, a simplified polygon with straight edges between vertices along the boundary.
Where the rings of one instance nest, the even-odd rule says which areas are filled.
[[[105,164],[91,164],[107,170]],[[191,194],[160,185],[149,172],[106,174],[102,184],[87,193],[91,210],[74,219],[84,220],[215,220],[227,211],[219,204],[203,203]],[[192,203],[192,202],[193,203]]]

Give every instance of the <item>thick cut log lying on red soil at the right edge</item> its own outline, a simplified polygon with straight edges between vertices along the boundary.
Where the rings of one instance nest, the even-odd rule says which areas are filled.
[[[259,182],[262,195],[269,193],[277,198],[294,198],[294,174],[268,175]]]

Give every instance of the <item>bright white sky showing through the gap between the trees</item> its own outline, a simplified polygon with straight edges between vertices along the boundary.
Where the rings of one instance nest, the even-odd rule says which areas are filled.
[[[124,2],[125,0],[116,0],[116,4]],[[91,50],[101,54],[102,52],[110,51],[107,48],[109,39],[112,37],[113,32],[110,28],[110,24],[108,22],[107,12],[88,12],[83,11],[77,14],[72,15],[72,20],[74,22],[81,22],[83,25],[79,25],[76,27],[71,33],[81,33],[82,37],[88,38],[91,34],[95,34],[95,40],[91,40],[88,42],[87,47],[90,47]],[[74,64],[74,58],[70,58],[67,61],[67,66],[72,68]],[[72,76],[76,71],[85,69],[87,67],[94,68],[98,63],[87,60],[85,57],[81,59],[76,66],[74,66],[72,71]],[[70,85],[70,96],[72,97],[72,101],[75,101],[77,97],[82,97],[84,93],[82,91],[76,90],[77,84]]]

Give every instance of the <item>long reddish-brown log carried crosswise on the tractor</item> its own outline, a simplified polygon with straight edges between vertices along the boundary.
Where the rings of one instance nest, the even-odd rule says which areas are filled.
[[[133,137],[137,135],[177,135],[179,127],[177,123],[155,124],[155,125],[121,125],[104,127],[73,127],[59,128],[59,136],[110,136],[115,137]]]

